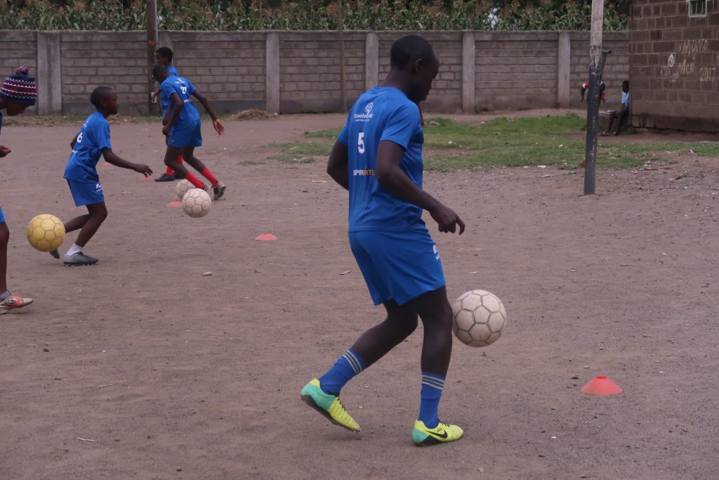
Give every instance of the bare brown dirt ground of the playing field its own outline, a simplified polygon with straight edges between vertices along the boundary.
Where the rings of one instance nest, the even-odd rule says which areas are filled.
[[[719,479],[717,158],[600,170],[593,196],[583,171],[427,172],[467,222],[431,225],[449,295],[486,289],[508,311],[498,343],[454,343],[440,417],[464,438],[411,443],[421,332],[343,390],[362,433],[308,409],[303,384],[383,309],[346,192],[265,145],[342,121],[206,125],[198,156],[228,188],[201,219],[166,207],[173,184],[100,166],[110,214],[85,268],[24,238],[35,214],[83,213],[62,178],[76,127],[3,130],[9,286],[35,304],[0,317],[0,479]],[[111,133],[160,173],[158,125]],[[623,393],[581,394],[597,375]]]

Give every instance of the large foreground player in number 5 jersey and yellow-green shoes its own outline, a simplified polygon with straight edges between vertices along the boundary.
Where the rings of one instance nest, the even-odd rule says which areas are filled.
[[[301,397],[331,422],[359,425],[339,401],[342,386],[407,338],[422,320],[421,402],[412,441],[435,445],[462,437],[437,409],[452,356],[452,307],[436,245],[421,219],[427,210],[440,232],[464,232],[459,216],[422,190],[424,141],[418,104],[439,71],[429,42],[400,38],[390,73],[359,97],[334,143],[327,172],[349,190],[349,245],[375,305],[387,318],[370,328]]]

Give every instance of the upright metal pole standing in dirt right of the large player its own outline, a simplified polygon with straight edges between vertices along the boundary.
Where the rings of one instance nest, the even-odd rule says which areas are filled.
[[[592,0],[589,94],[587,96],[587,148],[585,150],[585,195],[595,193],[597,183],[597,122],[599,121],[599,82],[602,76],[602,27],[604,0]]]

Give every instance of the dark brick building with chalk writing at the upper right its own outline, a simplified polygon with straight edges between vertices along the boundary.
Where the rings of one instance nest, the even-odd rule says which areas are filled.
[[[719,132],[719,0],[634,0],[632,123]]]

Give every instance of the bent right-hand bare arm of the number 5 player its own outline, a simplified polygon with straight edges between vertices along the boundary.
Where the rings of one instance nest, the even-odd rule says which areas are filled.
[[[375,177],[383,189],[398,199],[408,201],[425,209],[432,216],[440,232],[454,233],[459,225],[459,235],[464,232],[464,222],[449,207],[445,207],[434,196],[419,189],[400,168],[404,149],[395,142],[380,142],[377,148]]]

